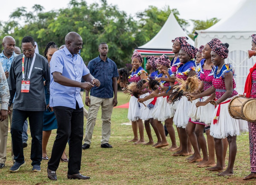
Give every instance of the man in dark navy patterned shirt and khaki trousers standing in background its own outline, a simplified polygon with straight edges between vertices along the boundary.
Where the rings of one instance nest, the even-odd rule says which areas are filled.
[[[102,110],[101,148],[112,148],[108,141],[111,132],[111,114],[113,107],[117,105],[116,78],[118,77],[118,71],[116,63],[107,57],[108,45],[105,42],[100,43],[98,51],[100,55],[91,60],[87,67],[92,76],[100,81],[100,86],[91,89],[90,98],[89,91],[85,91],[85,105],[89,106],[89,111],[82,149],[90,147],[93,128],[100,106]]]

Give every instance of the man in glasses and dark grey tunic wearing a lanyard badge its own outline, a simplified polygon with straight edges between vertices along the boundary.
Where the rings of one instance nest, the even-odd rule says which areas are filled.
[[[13,103],[12,112],[12,148],[15,163],[10,172],[17,172],[26,162],[23,155],[22,127],[28,118],[32,137],[31,165],[32,171],[41,171],[43,112],[46,110],[44,81],[49,89],[50,69],[47,60],[35,54],[35,41],[26,36],[21,41],[23,55],[16,56],[11,64],[8,84],[10,89],[9,106]]]

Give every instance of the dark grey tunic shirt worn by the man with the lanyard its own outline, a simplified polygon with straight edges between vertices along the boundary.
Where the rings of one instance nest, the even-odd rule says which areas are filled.
[[[45,85],[47,85],[47,91],[50,93],[50,68],[48,62],[43,56],[36,54],[35,63],[30,77],[29,92],[21,93],[22,56],[23,55],[16,56],[11,65],[8,78],[8,85],[10,90],[9,106],[11,106],[13,97],[16,93],[13,109],[25,111],[44,111],[46,110],[46,102],[43,78],[45,79]],[[27,71],[30,70],[32,60],[33,57],[30,58]],[[26,63],[27,58],[25,57],[24,68]],[[27,80],[26,76],[25,80]]]

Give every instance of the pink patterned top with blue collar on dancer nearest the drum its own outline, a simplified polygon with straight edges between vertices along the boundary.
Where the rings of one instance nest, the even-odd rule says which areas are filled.
[[[236,82],[234,80],[234,70],[231,64],[226,64],[224,66],[222,66],[220,73],[216,75],[216,72],[218,70],[218,67],[216,67],[216,69],[212,69],[214,70],[214,79],[212,80],[212,85],[214,86],[214,88],[216,89],[216,99],[220,99],[220,97],[226,93],[226,86],[225,86],[225,73],[228,73],[229,71],[233,72],[233,92],[230,95],[229,98],[236,96],[238,93],[236,92],[235,88],[236,88]]]

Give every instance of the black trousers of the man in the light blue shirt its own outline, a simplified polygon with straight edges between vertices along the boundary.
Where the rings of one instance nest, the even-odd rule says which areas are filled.
[[[53,110],[58,122],[58,128],[48,168],[52,171],[57,170],[69,138],[68,174],[79,174],[84,135],[83,108],[79,108],[76,102],[76,109],[57,106],[53,107]]]

